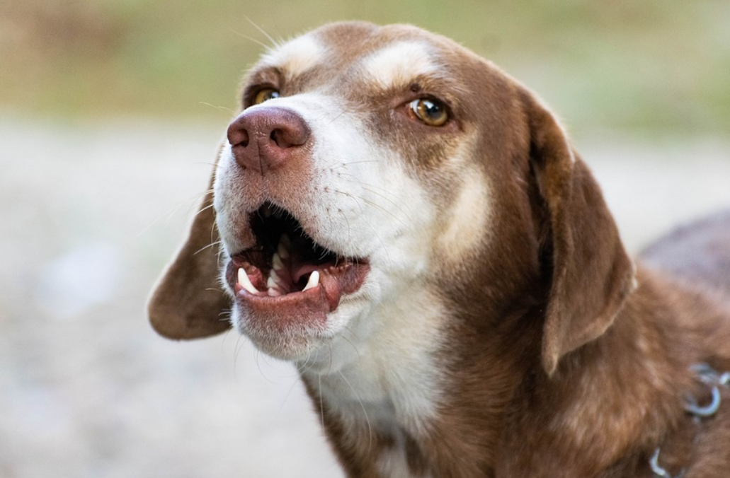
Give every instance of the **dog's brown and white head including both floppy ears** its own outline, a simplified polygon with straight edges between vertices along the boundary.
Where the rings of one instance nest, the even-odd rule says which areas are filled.
[[[151,299],[161,334],[233,324],[298,359],[346,330],[366,340],[404,294],[486,324],[530,291],[552,372],[612,323],[632,267],[601,192],[491,63],[418,28],[339,23],[268,52],[242,103]]]

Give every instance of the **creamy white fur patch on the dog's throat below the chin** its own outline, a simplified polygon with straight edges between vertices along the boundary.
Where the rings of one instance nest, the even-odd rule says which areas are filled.
[[[394,439],[373,460],[384,477],[407,478],[404,432],[416,439],[426,434],[442,401],[445,377],[434,356],[447,313],[423,283],[395,287],[396,297],[353,320],[299,369],[345,429]]]

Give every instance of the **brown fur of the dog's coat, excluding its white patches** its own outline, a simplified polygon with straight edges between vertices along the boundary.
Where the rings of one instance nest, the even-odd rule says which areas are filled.
[[[433,45],[452,76],[418,79],[418,87],[447,91],[457,125],[420,141],[388,122],[375,122],[373,132],[385,144],[415,144],[404,147],[404,160],[445,211],[461,172],[446,158],[471,141],[469,167],[488,181],[493,211],[490,239],[477,251],[434,260],[429,285],[448,311],[434,361],[448,380],[423,433],[348,421],[304,377],[347,475],[382,477],[377,458],[402,447],[414,477],[651,477],[649,459],[660,447],[672,476],[728,476],[730,391],[722,390],[720,412],[699,422],[683,404],[688,394],[709,400],[691,365],[730,370],[730,308],[717,294],[631,262],[599,186],[553,115],[491,64],[415,28],[347,23],[326,27],[320,38],[336,40],[337,55],[290,79],[290,94],[334,81],[352,58],[394,39]],[[270,74],[255,70],[245,91]],[[347,101],[362,102],[364,111],[390,108],[388,98],[398,95],[353,81],[337,85],[352,90]],[[718,245],[704,250],[701,264],[672,265],[668,258],[695,252],[696,243],[677,235],[650,248],[650,262],[730,291],[726,266],[707,267],[729,263],[722,261],[730,258],[730,225],[701,229]],[[175,277],[167,274],[151,299],[150,318],[167,337],[204,337],[227,326],[219,314],[230,302],[205,292],[218,275],[215,253],[193,254],[215,233],[204,209],[169,269]]]

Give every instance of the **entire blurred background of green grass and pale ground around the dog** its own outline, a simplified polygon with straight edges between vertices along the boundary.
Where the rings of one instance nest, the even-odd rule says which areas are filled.
[[[145,299],[262,44],[349,19],[536,90],[631,251],[730,205],[726,0],[2,0],[0,478],[342,476],[293,368]]]

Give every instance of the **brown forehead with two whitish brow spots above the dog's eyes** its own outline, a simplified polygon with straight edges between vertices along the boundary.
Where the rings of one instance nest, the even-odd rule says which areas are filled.
[[[420,28],[337,23],[269,50],[258,68],[275,68],[288,79],[310,74],[319,84],[356,79],[388,89],[420,77],[456,79],[464,63],[480,61],[455,42]]]

